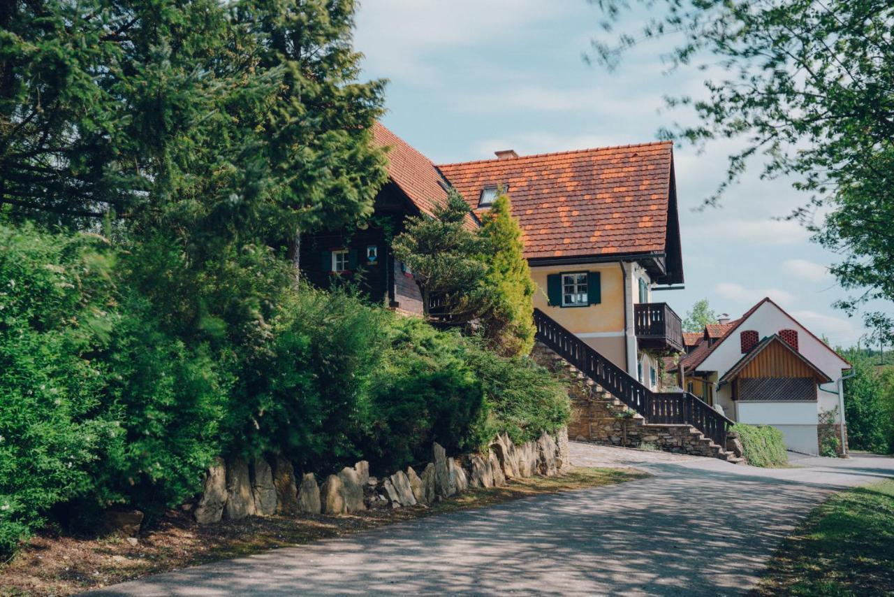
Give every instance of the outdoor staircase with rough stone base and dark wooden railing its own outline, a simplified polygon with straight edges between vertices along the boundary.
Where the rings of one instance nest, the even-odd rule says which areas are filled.
[[[572,382],[571,439],[742,461],[726,449],[733,422],[710,405],[653,392],[538,309],[535,324],[535,358]]]

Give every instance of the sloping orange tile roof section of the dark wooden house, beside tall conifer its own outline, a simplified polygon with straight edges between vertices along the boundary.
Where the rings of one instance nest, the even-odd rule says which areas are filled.
[[[434,216],[434,207],[446,202],[447,191],[442,186],[446,182],[432,161],[382,124],[373,127],[373,138],[377,145],[389,148],[388,176],[419,211]]]

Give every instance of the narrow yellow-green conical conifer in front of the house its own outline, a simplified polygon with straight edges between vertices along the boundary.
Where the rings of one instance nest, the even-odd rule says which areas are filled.
[[[501,354],[527,354],[534,345],[536,285],[524,256],[521,228],[512,217],[512,205],[506,194],[493,202],[484,217],[481,238],[487,265],[486,307],[480,318],[485,337]]]

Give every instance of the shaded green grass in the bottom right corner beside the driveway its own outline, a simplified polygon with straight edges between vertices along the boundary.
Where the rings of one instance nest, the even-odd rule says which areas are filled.
[[[776,552],[757,595],[894,593],[894,480],[842,491]]]

